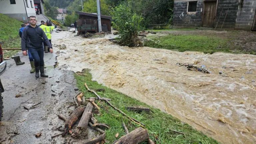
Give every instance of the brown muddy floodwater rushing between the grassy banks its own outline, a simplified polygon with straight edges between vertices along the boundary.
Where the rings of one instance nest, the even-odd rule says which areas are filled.
[[[53,42],[67,46],[59,50],[60,68],[89,68],[93,80],[159,108],[220,143],[256,143],[255,55],[129,48],[106,38],[59,34],[53,35]],[[212,73],[189,71],[178,62],[205,65]]]

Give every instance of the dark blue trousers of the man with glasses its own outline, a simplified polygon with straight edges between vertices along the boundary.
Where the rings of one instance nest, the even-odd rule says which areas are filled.
[[[29,52],[35,61],[35,67],[44,66],[44,48],[35,49],[32,47],[28,47]]]

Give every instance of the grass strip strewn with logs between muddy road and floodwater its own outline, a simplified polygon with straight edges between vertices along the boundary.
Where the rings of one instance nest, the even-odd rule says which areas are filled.
[[[106,97],[111,99],[111,104],[122,110],[128,116],[137,119],[138,121],[144,123],[149,131],[150,138],[157,144],[217,144],[218,142],[212,138],[207,137],[202,132],[196,131],[188,124],[185,124],[178,120],[177,118],[168,115],[167,113],[161,112],[159,109],[152,108],[143,102],[135,100],[128,97],[122,93],[115,90],[107,88],[95,81],[91,81],[92,76],[89,70],[84,72],[87,76],[79,76],[75,74],[77,79],[77,86],[81,92],[84,92],[86,98],[96,97],[94,94],[87,91],[84,83],[87,83],[91,90],[104,88],[104,92],[97,92],[101,97]],[[94,117],[100,123],[106,123],[110,125],[110,129],[106,130],[106,143],[113,143],[115,140],[119,139],[121,136],[125,135],[124,129],[122,127],[122,121],[126,123],[129,131],[132,131],[139,126],[132,123],[127,118],[123,117],[122,114],[118,113],[105,102],[97,101],[99,107],[101,107],[100,112],[94,112]],[[152,112],[146,113],[136,113],[127,111],[127,106],[143,106],[149,107]],[[180,134],[173,130],[185,133]],[[119,136],[115,138],[116,133]],[[144,143],[146,144],[146,143]]]

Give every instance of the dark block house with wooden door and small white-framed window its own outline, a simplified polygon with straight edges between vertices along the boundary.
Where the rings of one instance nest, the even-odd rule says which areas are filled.
[[[256,31],[256,0],[174,0],[173,26]]]

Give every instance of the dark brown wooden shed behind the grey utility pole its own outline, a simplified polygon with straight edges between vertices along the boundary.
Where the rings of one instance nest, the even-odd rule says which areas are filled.
[[[77,22],[78,34],[85,32],[99,32],[98,15],[93,13],[86,13],[76,11],[79,14]],[[101,28],[104,32],[111,32],[111,19],[110,16],[101,15]]]

